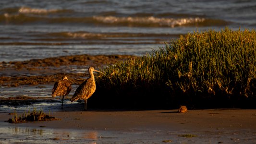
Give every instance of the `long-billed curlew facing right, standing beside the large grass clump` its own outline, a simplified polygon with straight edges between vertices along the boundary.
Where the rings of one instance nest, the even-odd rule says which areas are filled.
[[[93,67],[88,68],[89,72],[89,78],[85,80],[82,84],[80,84],[72,98],[70,99],[71,102],[77,101],[77,100],[85,100],[85,110],[87,110],[87,99],[92,96],[92,94],[96,90],[96,84],[93,72],[99,72],[97,70],[94,70]],[[102,72],[101,72],[102,73]]]

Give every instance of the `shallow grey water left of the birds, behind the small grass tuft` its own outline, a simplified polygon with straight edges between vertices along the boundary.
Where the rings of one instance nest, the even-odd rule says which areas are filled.
[[[39,85],[23,85],[19,87],[1,87],[0,88],[0,97],[1,98],[14,98],[14,97],[21,97],[19,98],[20,101],[26,102],[11,102],[10,103],[1,103],[0,104],[0,111],[1,112],[24,112],[25,110],[33,110],[34,108],[43,109],[45,111],[51,111],[56,108],[61,108],[61,98],[59,96],[52,97],[53,84],[39,84]],[[73,96],[76,88],[78,85],[72,85],[73,89],[69,94],[69,98]],[[28,97],[26,100],[23,100],[22,97]],[[64,107],[65,105],[76,105],[77,103],[81,103],[82,101],[78,102],[70,102],[67,99],[67,96],[64,97]]]

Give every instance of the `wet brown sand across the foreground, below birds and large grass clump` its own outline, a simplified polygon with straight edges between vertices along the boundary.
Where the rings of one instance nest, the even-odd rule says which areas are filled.
[[[34,142],[89,144],[256,143],[256,110],[251,109],[204,109],[187,113],[178,113],[178,109],[82,109],[83,103],[66,104],[64,109],[59,105],[51,110],[51,115],[61,120],[21,124],[3,122],[11,116],[0,112],[0,124],[18,137],[11,142],[33,139]],[[33,137],[27,138],[29,133]],[[7,140],[1,137],[0,142]]]

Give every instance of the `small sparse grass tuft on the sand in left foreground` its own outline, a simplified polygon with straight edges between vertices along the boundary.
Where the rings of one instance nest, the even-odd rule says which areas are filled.
[[[37,108],[34,108],[32,112],[30,110],[24,111],[23,114],[18,115],[16,111],[14,111],[12,119],[7,120],[7,122],[10,123],[24,123],[28,121],[44,121],[44,120],[60,120],[55,117],[46,115],[42,109],[37,110]]]

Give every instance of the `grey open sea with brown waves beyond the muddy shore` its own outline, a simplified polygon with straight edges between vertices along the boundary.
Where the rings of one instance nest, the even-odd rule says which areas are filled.
[[[1,0],[0,61],[142,55],[196,30],[256,26],[255,0]]]

